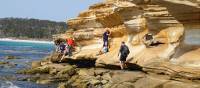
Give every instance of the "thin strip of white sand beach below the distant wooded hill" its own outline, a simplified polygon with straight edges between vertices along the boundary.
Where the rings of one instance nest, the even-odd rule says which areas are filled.
[[[27,42],[27,43],[49,43],[49,44],[53,44],[53,41],[20,40],[20,39],[10,39],[10,38],[0,38],[0,41]]]

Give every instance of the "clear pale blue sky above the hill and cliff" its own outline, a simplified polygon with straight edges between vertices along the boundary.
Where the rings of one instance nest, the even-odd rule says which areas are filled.
[[[0,18],[66,21],[102,0],[0,0]]]

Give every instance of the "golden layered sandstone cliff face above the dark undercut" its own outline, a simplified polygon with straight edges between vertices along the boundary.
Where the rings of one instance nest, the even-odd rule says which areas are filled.
[[[125,41],[130,48],[127,63],[138,64],[146,71],[199,78],[199,66],[191,65],[190,60],[194,55],[198,63],[199,50],[176,55],[181,51],[185,29],[193,25],[198,28],[199,21],[198,0],[106,0],[67,21],[72,31],[57,37],[75,38],[74,60],[96,60],[96,66],[119,65],[118,50]],[[109,52],[99,55],[106,30],[111,31]],[[153,33],[161,44],[145,47],[146,33]]]

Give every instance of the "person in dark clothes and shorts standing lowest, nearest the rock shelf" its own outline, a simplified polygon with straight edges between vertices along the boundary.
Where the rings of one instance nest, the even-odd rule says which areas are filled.
[[[130,51],[128,46],[125,44],[125,42],[121,43],[121,47],[118,53],[118,56],[120,55],[120,67],[121,69],[124,69],[124,67],[126,66],[125,62],[126,62],[126,58],[129,55]]]

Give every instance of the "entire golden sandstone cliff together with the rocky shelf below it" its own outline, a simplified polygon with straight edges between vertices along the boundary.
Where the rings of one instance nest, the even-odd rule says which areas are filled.
[[[53,53],[32,62],[18,73],[37,75],[23,80],[63,82],[58,88],[200,88],[199,0],[104,0],[67,25],[53,37],[74,37],[73,56],[58,63],[60,54]],[[109,52],[100,54],[105,30],[111,31]],[[159,43],[146,47],[146,33]],[[126,70],[119,70],[122,41],[130,48]]]

